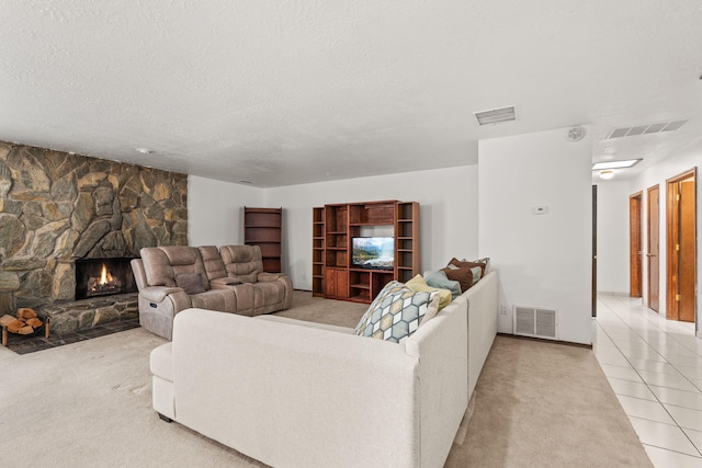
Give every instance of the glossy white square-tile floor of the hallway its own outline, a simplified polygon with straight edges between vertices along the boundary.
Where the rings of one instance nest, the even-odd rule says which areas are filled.
[[[599,295],[593,351],[655,467],[702,467],[702,340],[641,299]]]

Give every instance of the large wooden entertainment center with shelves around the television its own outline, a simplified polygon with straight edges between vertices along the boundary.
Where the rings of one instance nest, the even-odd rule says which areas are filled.
[[[352,239],[386,230],[394,237],[392,270],[353,265]],[[313,208],[314,296],[371,303],[389,281],[407,282],[420,273],[419,203],[343,203]]]

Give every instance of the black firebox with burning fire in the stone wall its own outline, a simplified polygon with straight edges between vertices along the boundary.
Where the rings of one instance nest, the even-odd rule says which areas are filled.
[[[76,300],[95,296],[135,293],[132,259],[76,260]]]

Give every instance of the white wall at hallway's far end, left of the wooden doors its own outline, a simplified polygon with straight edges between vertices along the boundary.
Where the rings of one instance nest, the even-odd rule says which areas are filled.
[[[630,293],[629,181],[597,183],[597,290]]]

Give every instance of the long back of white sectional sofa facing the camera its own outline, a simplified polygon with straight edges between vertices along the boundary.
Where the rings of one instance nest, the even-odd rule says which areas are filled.
[[[202,309],[174,320],[177,421],[271,466],[419,466],[418,366],[401,343]]]

